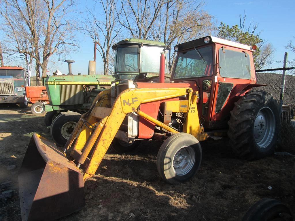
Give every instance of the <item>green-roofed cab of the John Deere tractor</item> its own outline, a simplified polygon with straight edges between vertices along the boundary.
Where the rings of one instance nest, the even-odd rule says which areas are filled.
[[[124,39],[113,45],[115,50],[114,77],[135,82],[159,82],[160,52],[167,50],[163,42]],[[165,80],[169,82],[165,62]]]

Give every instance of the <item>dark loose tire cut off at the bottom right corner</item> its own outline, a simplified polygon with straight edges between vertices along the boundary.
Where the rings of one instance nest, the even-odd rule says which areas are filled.
[[[242,221],[293,221],[288,207],[275,199],[264,198],[253,204]]]

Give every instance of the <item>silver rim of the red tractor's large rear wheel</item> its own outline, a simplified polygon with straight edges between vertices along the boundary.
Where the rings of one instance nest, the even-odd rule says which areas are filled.
[[[273,140],[276,128],[276,119],[269,107],[263,107],[258,111],[254,121],[254,139],[256,144],[264,149]]]

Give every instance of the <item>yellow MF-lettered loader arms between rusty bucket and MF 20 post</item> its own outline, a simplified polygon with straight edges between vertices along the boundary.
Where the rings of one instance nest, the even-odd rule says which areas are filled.
[[[109,92],[100,93],[96,100],[103,100],[100,97],[107,93]],[[120,93],[112,108],[107,108],[106,104],[102,105],[100,102],[96,102],[90,113],[81,117],[75,128],[75,133],[72,133],[65,146],[66,150],[71,150],[70,159],[76,162],[78,168],[84,169],[84,182],[95,174],[126,114],[136,112],[140,104],[143,103],[189,94],[191,94],[190,88],[132,88]],[[160,121],[157,121],[156,124],[165,127]],[[168,126],[165,129],[172,133],[178,133]],[[71,148],[72,145],[73,148]],[[92,154],[87,158],[91,150]]]

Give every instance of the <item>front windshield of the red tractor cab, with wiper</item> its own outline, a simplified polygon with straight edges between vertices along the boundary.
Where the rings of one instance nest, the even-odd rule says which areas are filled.
[[[173,78],[212,76],[212,57],[211,46],[179,52]]]

